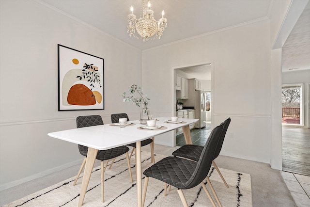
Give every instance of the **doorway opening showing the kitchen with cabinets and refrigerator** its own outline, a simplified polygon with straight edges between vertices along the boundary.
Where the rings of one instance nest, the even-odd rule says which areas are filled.
[[[201,64],[177,66],[174,67],[173,70],[173,101],[175,103],[175,115],[178,117],[190,118],[190,115],[192,114],[192,118],[199,119],[199,121],[195,125],[190,126],[190,129],[191,134],[196,134],[200,130],[203,130],[199,133],[199,135],[202,135],[202,133],[205,134],[203,134],[203,136],[200,136],[196,140],[199,140],[199,142],[201,142],[200,144],[202,144],[202,142],[204,142],[206,139],[204,136],[208,136],[206,135],[208,133],[208,130],[205,129],[211,129],[213,127],[213,105],[211,103],[213,102],[213,99],[211,98],[211,96],[213,95],[211,93],[213,90],[213,61]],[[182,104],[182,108],[180,108],[180,103]],[[202,122],[200,120],[202,120]],[[175,137],[175,144],[181,146],[182,143],[180,142],[184,140],[184,138],[182,138],[182,130],[177,130],[175,132],[175,135],[177,135],[177,137]],[[195,140],[193,140],[193,143],[194,142]],[[183,144],[185,144],[185,142]]]

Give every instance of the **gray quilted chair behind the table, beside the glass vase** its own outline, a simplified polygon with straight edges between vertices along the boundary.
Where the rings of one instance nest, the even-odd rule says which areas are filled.
[[[126,113],[113,113],[111,114],[111,122],[112,123],[118,123],[119,122],[119,118],[127,118],[127,122],[129,121],[128,115]],[[146,139],[141,141],[141,146],[145,146],[150,144],[151,147],[151,162],[155,163],[155,157],[154,157],[154,137]],[[130,143],[130,144],[126,144],[127,146],[132,146],[133,149],[130,153],[129,159],[131,158],[133,152],[136,150],[136,143]],[[113,160],[114,161],[114,160]],[[113,162],[112,161],[112,162]],[[111,165],[110,165],[111,167]]]

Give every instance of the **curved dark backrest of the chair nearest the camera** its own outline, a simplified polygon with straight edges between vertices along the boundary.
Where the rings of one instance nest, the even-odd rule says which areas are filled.
[[[202,182],[204,178],[208,175],[214,153],[216,151],[217,143],[219,141],[219,137],[223,131],[223,123],[219,126],[215,127],[209,136],[209,139],[205,143],[202,154],[197,162],[196,169],[186,182],[184,189],[190,189]]]

